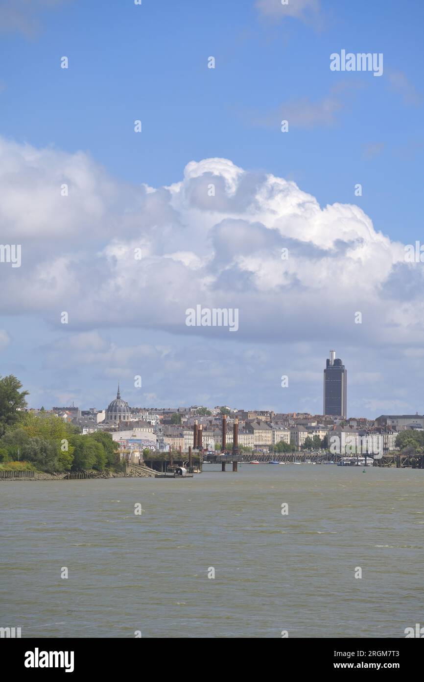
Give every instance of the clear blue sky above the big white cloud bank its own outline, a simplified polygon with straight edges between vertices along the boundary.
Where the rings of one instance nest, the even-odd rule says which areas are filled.
[[[421,101],[424,5],[321,6],[319,29],[261,17],[249,0],[47,8],[31,40],[3,35],[2,133],[84,149],[114,175],[152,186],[177,181],[186,162],[211,156],[290,175],[321,204],[352,201],[360,182],[361,207],[376,227],[413,239],[421,227],[423,110],[404,101],[389,74],[404,72]],[[330,72],[329,55],[342,48],[382,52],[382,78],[359,72],[346,83],[346,74]],[[69,57],[67,72],[58,55]],[[206,68],[210,55],[215,70]],[[253,123],[289,100],[319,102],[343,81],[348,92],[333,125],[281,136],[278,116],[274,129]],[[144,134],[135,143],[137,118]],[[370,151],[375,145],[384,147]]]

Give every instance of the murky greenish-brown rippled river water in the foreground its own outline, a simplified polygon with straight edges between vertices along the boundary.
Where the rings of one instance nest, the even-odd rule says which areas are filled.
[[[22,637],[384,638],[424,625],[423,470],[206,464],[186,480],[0,485],[0,626]]]

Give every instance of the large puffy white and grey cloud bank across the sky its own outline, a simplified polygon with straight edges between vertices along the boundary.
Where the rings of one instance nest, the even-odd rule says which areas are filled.
[[[36,313],[63,329],[66,311],[73,332],[126,326],[227,338],[226,329],[186,327],[186,308],[200,303],[239,308],[237,341],[304,342],[311,329],[343,343],[424,341],[423,303],[402,297],[412,276],[419,291],[422,264],[405,263],[402,244],[356,205],[321,207],[293,181],[218,158],[192,161],[172,188],[149,192],[81,152],[0,140],[0,162],[3,241],[22,244],[22,266],[1,265],[3,313]],[[113,357],[95,335],[80,342],[91,343],[88,358]]]

